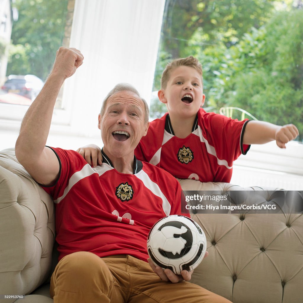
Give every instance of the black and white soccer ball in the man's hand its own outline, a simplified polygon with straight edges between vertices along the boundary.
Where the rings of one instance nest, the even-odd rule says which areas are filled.
[[[147,251],[156,266],[180,275],[183,269],[191,271],[200,264],[206,251],[206,237],[194,220],[171,215],[151,228]]]

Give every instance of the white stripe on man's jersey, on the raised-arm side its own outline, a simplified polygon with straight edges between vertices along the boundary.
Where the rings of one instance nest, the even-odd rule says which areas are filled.
[[[97,166],[97,168],[92,168],[89,164],[85,164],[80,171],[76,171],[71,178],[68,181],[68,185],[65,188],[63,195],[61,197],[58,197],[57,200],[54,201],[54,203],[60,203],[62,199],[65,198],[65,196],[68,194],[68,192],[71,190],[71,188],[80,180],[92,175],[92,174],[98,174],[101,176],[106,171],[113,169],[110,165],[103,163],[101,166]]]

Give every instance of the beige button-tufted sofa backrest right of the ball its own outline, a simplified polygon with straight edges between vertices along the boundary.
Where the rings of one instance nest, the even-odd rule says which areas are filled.
[[[281,206],[279,188],[242,188],[194,180],[179,182],[185,193],[199,191],[202,195],[214,191],[225,195],[237,191],[233,194],[241,200],[244,191],[253,191],[250,195],[254,197],[253,203]],[[302,192],[299,194],[302,196]],[[300,209],[303,210],[303,205]],[[191,215],[205,231],[209,252],[195,269],[191,282],[234,303],[303,302],[302,213],[214,212],[197,211]]]

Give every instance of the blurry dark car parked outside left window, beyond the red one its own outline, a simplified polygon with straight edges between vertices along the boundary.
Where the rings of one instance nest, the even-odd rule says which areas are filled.
[[[9,75],[2,90],[34,100],[44,83],[35,75]]]

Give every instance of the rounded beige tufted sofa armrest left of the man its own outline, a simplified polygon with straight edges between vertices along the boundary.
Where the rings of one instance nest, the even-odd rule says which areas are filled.
[[[0,151],[0,232],[0,294],[29,294],[50,275],[55,215],[13,149]]]

